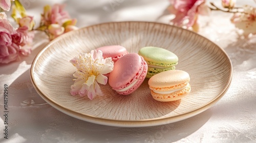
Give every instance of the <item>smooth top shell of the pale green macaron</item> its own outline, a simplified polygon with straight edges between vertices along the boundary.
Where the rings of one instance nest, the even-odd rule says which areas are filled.
[[[139,50],[139,55],[142,56],[146,62],[159,64],[174,64],[178,62],[178,57],[174,53],[161,47],[142,47]]]

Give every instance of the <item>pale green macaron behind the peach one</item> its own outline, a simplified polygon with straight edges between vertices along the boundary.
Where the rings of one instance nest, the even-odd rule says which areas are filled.
[[[155,46],[142,47],[138,54],[147,62],[146,78],[151,78],[163,71],[175,69],[179,60],[174,53]]]

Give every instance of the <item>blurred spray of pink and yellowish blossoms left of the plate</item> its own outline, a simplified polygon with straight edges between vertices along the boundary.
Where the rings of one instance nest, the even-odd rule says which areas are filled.
[[[78,29],[76,19],[72,19],[65,5],[47,5],[41,14],[40,26],[34,29],[33,16],[27,15],[26,9],[18,1],[0,0],[0,7],[4,11],[12,9],[11,17],[17,23],[14,28],[5,12],[0,13],[0,63],[15,61],[20,56],[28,56],[31,53],[34,30],[44,31],[49,40],[59,35]]]

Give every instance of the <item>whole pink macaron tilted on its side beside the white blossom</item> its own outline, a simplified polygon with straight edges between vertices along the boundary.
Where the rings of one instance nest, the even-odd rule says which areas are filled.
[[[129,53],[116,61],[109,75],[109,84],[119,94],[131,94],[144,81],[146,73],[145,60],[137,53]]]

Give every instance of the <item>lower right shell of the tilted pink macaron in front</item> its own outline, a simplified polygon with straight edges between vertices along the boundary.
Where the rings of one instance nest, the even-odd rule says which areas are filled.
[[[142,58],[142,57],[141,57]],[[130,89],[125,90],[123,92],[118,92],[119,94],[123,94],[123,95],[127,95],[127,94],[131,94],[132,92],[134,92],[137,88],[139,88],[139,86],[143,83],[145,77],[146,77],[146,73],[147,73],[147,63],[146,61],[142,58],[142,69],[139,72],[141,73],[141,75],[138,75],[139,80],[137,81],[137,83],[132,86]],[[137,77],[136,77],[137,79]]]

